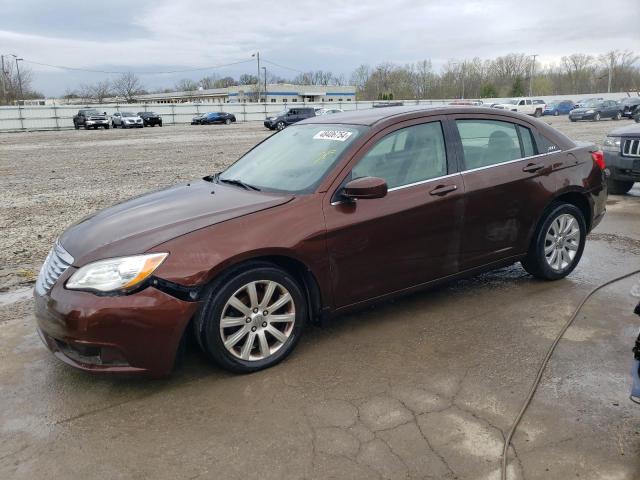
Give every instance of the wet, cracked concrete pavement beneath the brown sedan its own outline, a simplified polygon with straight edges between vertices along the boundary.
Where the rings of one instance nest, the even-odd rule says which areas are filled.
[[[640,269],[639,186],[610,197],[565,280],[512,266],[384,303],[309,329],[289,359],[252,375],[195,348],[166,380],[75,371],[42,346],[30,288],[11,280],[0,478],[499,478],[503,435],[556,333],[591,288]],[[586,305],[515,436],[509,478],[640,478],[640,407],[628,400],[638,297],[640,275]]]

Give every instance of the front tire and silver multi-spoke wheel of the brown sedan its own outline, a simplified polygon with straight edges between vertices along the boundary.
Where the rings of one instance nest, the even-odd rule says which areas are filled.
[[[252,284],[256,287],[254,302],[249,296],[249,285]],[[260,304],[265,300],[269,285],[273,285],[273,293],[267,304],[285,302],[276,306],[274,312],[268,312],[269,307]],[[289,300],[284,292],[289,294]],[[243,306],[243,311],[230,302]],[[258,307],[253,310],[250,304]],[[264,311],[268,312],[266,316]],[[230,324],[221,328],[223,315]],[[288,320],[281,321],[285,315]],[[273,320],[276,316],[277,321]],[[194,329],[201,347],[215,363],[232,372],[250,373],[272,367],[289,355],[298,343],[306,321],[306,297],[297,280],[275,265],[260,262],[235,269],[212,284],[196,315]],[[279,338],[271,334],[274,330],[279,332]],[[225,340],[229,343],[234,339],[235,343],[225,346]]]

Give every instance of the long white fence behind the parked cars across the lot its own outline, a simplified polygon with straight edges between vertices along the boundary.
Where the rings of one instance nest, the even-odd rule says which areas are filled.
[[[602,97],[605,99],[619,100],[629,94],[622,93],[593,93],[584,95],[552,95],[540,98],[546,102],[556,99],[578,100],[586,97]],[[637,95],[633,93],[632,95]],[[484,102],[501,99],[484,99]],[[404,105],[447,105],[451,99],[442,100],[399,100]],[[347,110],[363,110],[372,108],[374,104],[383,102],[323,102],[323,103],[178,103],[178,104],[105,104],[88,105],[100,112],[111,115],[115,112],[142,112],[153,111],[162,115],[165,125],[190,123],[194,115],[225,111],[235,114],[239,122],[263,121],[266,117],[275,115],[285,108],[302,106],[319,106],[326,108],[341,108]],[[73,128],[73,116],[83,105],[47,105],[24,107],[0,107],[0,132],[20,132],[32,130],[62,130]]]

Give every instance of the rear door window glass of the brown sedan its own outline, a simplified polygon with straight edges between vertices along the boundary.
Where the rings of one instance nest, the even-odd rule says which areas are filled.
[[[497,120],[456,120],[456,125],[467,170],[525,156],[522,153],[516,125],[513,123]]]

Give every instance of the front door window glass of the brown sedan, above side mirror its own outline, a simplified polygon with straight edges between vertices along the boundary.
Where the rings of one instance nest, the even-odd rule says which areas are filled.
[[[386,135],[360,159],[351,173],[352,178],[382,178],[388,188],[446,175],[442,125],[423,123]]]

